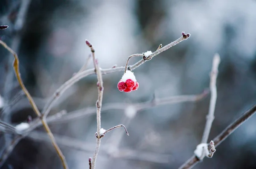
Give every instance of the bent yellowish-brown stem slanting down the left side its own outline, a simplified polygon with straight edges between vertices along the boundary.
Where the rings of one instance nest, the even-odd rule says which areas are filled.
[[[14,68],[14,71],[15,71],[15,74],[16,74],[16,77],[17,77],[17,80],[20,84],[20,87],[21,89],[24,91],[26,97],[28,98],[29,100],[29,103],[31,104],[32,106],[32,109],[34,110],[35,114],[41,119],[41,122],[44,126],[44,129],[46,130],[47,134],[49,135],[49,138],[51,139],[52,141],[52,145],[54,146],[56,152],[58,153],[60,159],[61,159],[61,162],[62,162],[62,165],[64,167],[64,169],[68,169],[68,166],[67,166],[67,162],[65,160],[65,157],[64,155],[62,154],[60,148],[58,147],[56,141],[55,141],[55,138],[53,137],[52,135],[52,132],[51,130],[49,129],[49,126],[47,125],[47,122],[45,120],[45,118],[41,117],[41,113],[39,112],[37,106],[35,105],[35,102],[33,100],[33,98],[31,97],[31,95],[29,94],[29,92],[27,91],[26,87],[24,86],[23,84],[23,81],[20,77],[20,70],[19,70],[19,59],[18,59],[18,56],[17,54],[11,49],[9,48],[9,46],[6,45],[6,43],[4,43],[2,40],[0,40],[0,44],[6,48],[9,52],[11,52],[15,58],[14,62],[13,62],[13,68]]]

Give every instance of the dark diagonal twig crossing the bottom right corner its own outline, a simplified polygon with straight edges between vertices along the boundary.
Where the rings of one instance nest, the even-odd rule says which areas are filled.
[[[220,145],[222,141],[224,141],[228,136],[230,136],[239,126],[241,126],[246,120],[248,120],[255,113],[256,113],[256,104],[253,107],[251,107],[249,110],[244,112],[236,121],[234,121],[229,126],[227,126],[227,128],[224,129],[221,132],[221,134],[219,134],[217,137],[213,139],[215,143],[215,147]],[[179,169],[191,169],[199,161],[200,160],[195,155],[193,155],[185,163],[183,163],[183,165],[180,166]]]

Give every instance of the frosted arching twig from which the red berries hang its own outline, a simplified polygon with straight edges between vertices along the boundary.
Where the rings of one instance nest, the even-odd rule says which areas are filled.
[[[172,46],[177,45],[178,43],[180,43],[183,40],[186,40],[188,37],[190,36],[190,34],[184,34],[182,33],[182,37],[178,38],[177,40],[175,40],[172,43],[169,43],[168,45],[164,46],[163,48],[157,50],[156,52],[150,54],[148,56],[148,58],[152,58],[154,56],[156,56],[157,54],[160,54],[161,52],[169,49]],[[141,54],[141,56],[143,56]],[[138,68],[140,65],[142,65],[143,63],[145,63],[148,60],[142,59],[140,61],[138,61],[137,63],[135,63],[134,65],[128,66],[127,69],[128,70],[134,70],[136,68]],[[101,73],[102,74],[108,74],[108,73],[112,73],[112,72],[117,72],[117,71],[124,71],[125,67],[121,66],[121,67],[114,67],[114,68],[110,68],[110,69],[101,69]],[[58,100],[58,98],[68,89],[70,88],[70,86],[72,86],[74,83],[78,82],[80,79],[90,75],[90,74],[95,74],[95,69],[88,69],[86,71],[83,71],[81,73],[76,74],[75,76],[71,77],[70,80],[67,80],[63,85],[61,85],[55,92],[54,94],[50,97],[49,101],[47,102],[47,104],[44,106],[44,109],[42,111],[42,114],[44,116],[47,116],[53,106],[53,103],[55,103],[56,100]]]

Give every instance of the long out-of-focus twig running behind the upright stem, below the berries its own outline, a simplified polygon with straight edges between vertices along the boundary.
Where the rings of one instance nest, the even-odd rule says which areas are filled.
[[[143,102],[143,103],[107,103],[104,104],[101,110],[106,112],[107,110],[113,110],[113,109],[118,109],[118,110],[124,110],[128,106],[133,106],[136,111],[142,111],[145,109],[149,109],[152,107],[156,106],[161,106],[161,105],[166,105],[166,104],[174,104],[174,103],[182,103],[182,102],[189,102],[189,101],[199,101],[203,99],[205,96],[207,96],[209,93],[208,90],[204,90],[199,95],[180,95],[180,96],[171,96],[171,97],[164,97],[164,98],[154,98],[152,101],[148,102]],[[67,113],[66,111],[61,111],[56,113],[55,115],[50,115],[46,118],[47,123],[59,123],[59,122],[65,122],[65,121],[70,121],[76,118],[81,118],[85,115],[93,115],[95,113],[95,107],[87,107],[85,109],[81,110],[76,110],[74,112],[69,112]],[[127,124],[127,123],[126,123]],[[16,136],[13,138],[12,144],[9,146],[8,151],[5,151],[5,157],[9,157],[9,154],[12,152],[14,147],[16,146],[16,143],[20,141],[20,139],[26,137],[32,130],[36,129],[37,127],[41,126],[41,120],[38,118],[36,120],[33,120],[32,123],[30,124],[29,129],[25,130],[22,134],[22,136]],[[1,159],[3,161],[3,159]],[[0,160],[0,164],[1,164]],[[6,158],[5,158],[6,160]],[[4,161],[5,161],[4,160]]]

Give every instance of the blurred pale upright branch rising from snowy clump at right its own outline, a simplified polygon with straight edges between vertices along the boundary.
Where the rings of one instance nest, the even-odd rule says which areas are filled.
[[[218,76],[218,65],[220,63],[219,54],[215,54],[212,61],[212,72],[210,77],[210,91],[211,91],[211,99],[209,106],[209,113],[207,115],[207,121],[204,128],[204,134],[201,140],[201,143],[207,143],[209,133],[212,127],[212,121],[214,119],[214,111],[217,100],[217,88],[216,88],[216,79]]]

